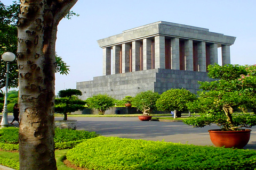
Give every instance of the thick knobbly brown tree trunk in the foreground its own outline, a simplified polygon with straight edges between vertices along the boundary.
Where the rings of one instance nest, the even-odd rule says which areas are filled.
[[[54,156],[55,41],[78,0],[21,0],[18,21],[20,169],[57,169]]]

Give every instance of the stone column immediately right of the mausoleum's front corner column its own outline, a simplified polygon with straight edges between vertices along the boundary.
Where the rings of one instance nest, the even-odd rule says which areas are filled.
[[[171,39],[171,69],[180,70],[180,39]]]

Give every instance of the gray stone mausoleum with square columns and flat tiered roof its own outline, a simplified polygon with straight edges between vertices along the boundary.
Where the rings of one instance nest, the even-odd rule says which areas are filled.
[[[236,37],[189,25],[154,22],[98,40],[103,49],[103,76],[77,82],[82,99],[108,94],[116,99],[138,92],[186,88],[195,93],[198,81],[211,81],[206,67],[230,64]]]

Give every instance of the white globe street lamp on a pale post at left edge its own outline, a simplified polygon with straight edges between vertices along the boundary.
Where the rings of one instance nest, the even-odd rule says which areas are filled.
[[[15,60],[15,55],[11,52],[6,52],[2,55],[2,59],[7,62],[6,64],[6,82],[5,82],[5,95],[4,95],[4,109],[3,109],[3,117],[1,121],[1,127],[6,128],[9,125],[8,122],[8,109],[7,109],[7,92],[8,92],[8,78],[9,78],[9,66],[10,62]]]

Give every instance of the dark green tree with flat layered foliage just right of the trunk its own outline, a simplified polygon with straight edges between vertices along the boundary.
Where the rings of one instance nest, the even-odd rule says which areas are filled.
[[[66,89],[59,91],[59,97],[55,99],[54,111],[64,115],[63,120],[67,121],[67,113],[84,109],[85,101],[78,99],[82,92],[76,89]]]

